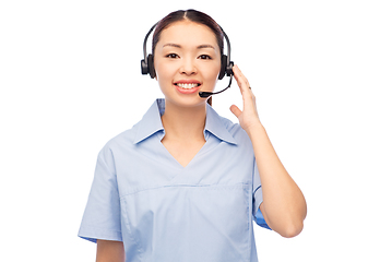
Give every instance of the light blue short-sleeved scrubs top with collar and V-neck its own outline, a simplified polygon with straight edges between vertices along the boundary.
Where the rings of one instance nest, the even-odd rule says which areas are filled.
[[[207,105],[205,144],[182,167],[161,143],[165,100],[100,151],[79,236],[122,241],[128,262],[257,261],[268,225],[252,144]]]

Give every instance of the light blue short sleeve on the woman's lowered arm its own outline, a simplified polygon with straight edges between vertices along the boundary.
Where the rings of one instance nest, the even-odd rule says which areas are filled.
[[[120,198],[112,152],[105,146],[97,157],[93,184],[83,214],[79,237],[122,241]]]

